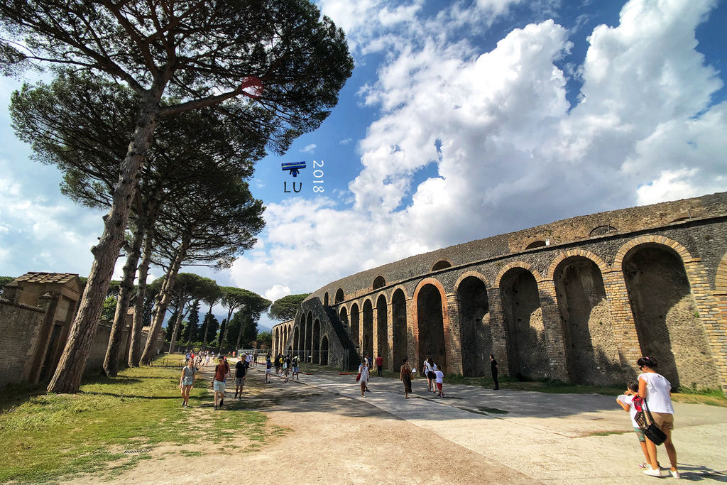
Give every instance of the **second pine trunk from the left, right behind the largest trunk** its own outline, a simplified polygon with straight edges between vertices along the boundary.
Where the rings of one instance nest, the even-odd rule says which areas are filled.
[[[141,244],[144,241],[145,217],[142,214],[143,208],[139,208],[140,217],[137,220],[137,228],[134,231],[131,251],[124,263],[124,276],[119,284],[119,300],[116,300],[116,313],[113,316],[111,335],[108,337],[106,357],[103,361],[103,371],[109,377],[116,377],[119,374],[119,351],[121,350],[121,337],[124,336],[126,326],[126,313],[129,310],[129,302],[134,291],[134,278],[136,276],[137,264],[141,256]],[[130,337],[130,336],[129,336]]]

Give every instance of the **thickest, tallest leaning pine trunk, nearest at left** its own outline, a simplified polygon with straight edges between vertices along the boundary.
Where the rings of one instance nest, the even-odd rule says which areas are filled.
[[[113,267],[119,258],[121,244],[124,243],[124,231],[129,220],[137,177],[158,124],[160,97],[161,89],[158,90],[156,99],[150,96],[142,105],[134,135],[119,167],[119,182],[113,191],[111,209],[104,217],[103,233],[97,246],[91,249],[94,255],[91,273],[79,303],[78,313],[68,332],[63,354],[48,385],[49,393],[76,393],[81,386],[81,377],[101,318]]]

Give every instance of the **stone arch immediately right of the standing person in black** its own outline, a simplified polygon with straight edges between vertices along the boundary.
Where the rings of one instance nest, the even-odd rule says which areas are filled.
[[[529,265],[505,266],[502,275],[497,277],[505,317],[508,364],[510,374],[515,377],[547,377],[550,358],[537,276],[525,266]]]

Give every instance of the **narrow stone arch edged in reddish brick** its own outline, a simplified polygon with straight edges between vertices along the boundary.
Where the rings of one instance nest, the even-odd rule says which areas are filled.
[[[427,355],[431,356],[446,374],[447,345],[449,334],[449,318],[447,316],[447,300],[444,286],[436,278],[425,278],[419,281],[414,290],[414,308],[416,308],[415,346],[419,358],[423,362]]]

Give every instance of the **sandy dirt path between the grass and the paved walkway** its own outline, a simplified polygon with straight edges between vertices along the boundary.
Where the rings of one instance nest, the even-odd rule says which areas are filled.
[[[121,476],[76,477],[74,483],[206,484],[230,481],[272,483],[483,483],[532,482],[512,468],[440,438],[377,407],[345,396],[273,377],[263,385],[253,371],[243,400],[268,416],[273,433],[257,451],[249,441],[206,442],[182,449],[160,446]],[[229,387],[228,387],[229,390]],[[234,392],[234,389],[233,389]],[[227,393],[228,402],[232,396]],[[260,407],[257,407],[259,406]],[[225,413],[209,407],[196,413]],[[277,436],[275,436],[277,435]]]

